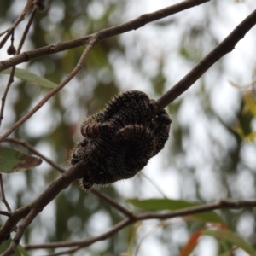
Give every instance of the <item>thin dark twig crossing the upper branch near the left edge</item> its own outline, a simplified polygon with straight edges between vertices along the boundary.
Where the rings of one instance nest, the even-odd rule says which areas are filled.
[[[25,31],[23,32],[22,38],[20,39],[20,44],[18,46],[16,55],[20,54],[20,50],[22,48],[22,45],[25,42],[27,32],[29,31],[29,29],[30,29],[30,27],[32,25],[32,20],[34,19],[35,15],[37,13],[37,10],[38,9],[33,9],[32,15],[30,15],[30,18],[29,18],[29,20],[28,20],[28,22],[26,24]],[[2,105],[1,105],[1,110],[0,110],[0,127],[1,127],[1,124],[2,124],[2,120],[3,120],[3,111],[4,111],[4,105],[5,105],[6,97],[7,97],[7,94],[9,92],[10,85],[14,82],[14,77],[15,77],[15,66],[12,67],[12,71],[11,71],[11,73],[9,75],[8,84],[6,85],[6,89],[4,90],[4,93],[3,93]]]

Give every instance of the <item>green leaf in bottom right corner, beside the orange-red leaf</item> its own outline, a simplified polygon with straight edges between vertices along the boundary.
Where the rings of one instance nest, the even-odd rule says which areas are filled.
[[[247,244],[240,236],[237,236],[230,230],[205,230],[201,235],[213,236],[219,241],[228,241],[237,247],[240,247],[250,256],[256,256],[256,251],[253,247]]]

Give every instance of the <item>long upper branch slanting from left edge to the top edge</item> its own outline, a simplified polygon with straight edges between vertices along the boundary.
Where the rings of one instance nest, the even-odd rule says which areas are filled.
[[[139,27],[145,26],[146,24],[154,20],[163,19],[170,15],[177,14],[185,9],[189,9],[189,8],[195,7],[196,5],[200,5],[201,3],[207,3],[209,1],[210,0],[183,1],[181,3],[174,4],[165,9],[160,9],[158,11],[155,11],[153,13],[146,14],[146,15],[141,15],[137,19],[131,20],[129,22],[125,22],[124,24],[121,24],[119,26],[112,26],[110,28],[103,29],[100,32],[96,32],[96,34],[90,34],[84,38],[69,40],[66,42],[61,42],[59,44],[51,44],[42,48],[23,52],[20,55],[17,55],[13,58],[9,58],[8,60],[0,61],[0,72],[8,67],[15,66],[22,62],[31,61],[32,59],[42,57],[44,55],[51,55],[63,50],[73,49],[73,48],[88,44],[88,42],[90,42],[90,39],[94,38],[95,35],[97,36],[98,40],[101,41],[125,32],[129,32],[131,30],[136,30]]]

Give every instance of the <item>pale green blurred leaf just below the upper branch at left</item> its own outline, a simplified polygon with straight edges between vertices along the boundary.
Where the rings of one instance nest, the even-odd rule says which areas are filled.
[[[11,68],[8,68],[2,72],[3,74],[10,74]],[[53,89],[57,84],[49,81],[48,79],[44,79],[34,73],[27,71],[26,69],[22,68],[15,68],[15,77],[27,82],[31,82],[32,84],[42,86],[46,89]]]

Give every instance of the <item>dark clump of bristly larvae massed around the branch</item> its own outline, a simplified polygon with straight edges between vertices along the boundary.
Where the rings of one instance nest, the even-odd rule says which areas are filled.
[[[102,111],[81,125],[84,140],[74,148],[72,165],[90,164],[81,183],[109,184],[133,177],[158,154],[169,137],[171,119],[166,110],[154,114],[154,100],[143,91],[115,96]]]

